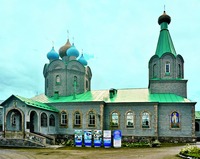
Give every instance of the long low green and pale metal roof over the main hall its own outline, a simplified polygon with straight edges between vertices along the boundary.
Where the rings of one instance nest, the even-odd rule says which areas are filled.
[[[32,98],[33,100],[43,103],[57,103],[57,102],[106,102],[106,103],[122,103],[122,102],[191,102],[187,98],[175,94],[151,94],[147,88],[144,89],[118,89],[117,95],[110,98],[109,90],[93,90],[83,94],[73,96],[59,97],[58,99],[52,97],[48,98],[44,94]]]

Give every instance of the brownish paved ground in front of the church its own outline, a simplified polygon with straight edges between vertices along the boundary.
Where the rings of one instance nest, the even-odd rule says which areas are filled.
[[[184,146],[159,148],[0,148],[0,159],[180,159],[176,155]],[[198,144],[200,147],[200,143]]]

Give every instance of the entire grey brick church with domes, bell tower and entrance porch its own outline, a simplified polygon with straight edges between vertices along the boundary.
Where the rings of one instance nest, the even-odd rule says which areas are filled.
[[[12,95],[1,104],[2,136],[42,143],[77,129],[121,130],[136,141],[194,142],[196,102],[187,98],[184,59],[175,51],[170,22],[164,11],[148,88],[91,90],[91,68],[75,45],[68,39],[59,54],[52,47],[43,69],[45,93],[31,99]]]

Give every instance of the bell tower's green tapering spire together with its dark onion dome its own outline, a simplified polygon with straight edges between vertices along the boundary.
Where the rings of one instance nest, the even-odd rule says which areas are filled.
[[[158,55],[159,58],[164,53],[172,53],[174,56],[176,56],[176,51],[168,30],[168,24],[170,22],[170,16],[168,16],[164,11],[164,13],[158,19],[158,24],[160,25],[161,30],[156,48],[156,55]]]

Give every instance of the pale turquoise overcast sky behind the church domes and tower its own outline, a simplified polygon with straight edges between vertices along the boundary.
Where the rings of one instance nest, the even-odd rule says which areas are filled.
[[[164,5],[188,98],[200,103],[199,0],[0,0],[0,99],[44,92],[46,55],[52,41],[57,52],[66,43],[67,30],[87,55],[92,90],[147,88]]]

